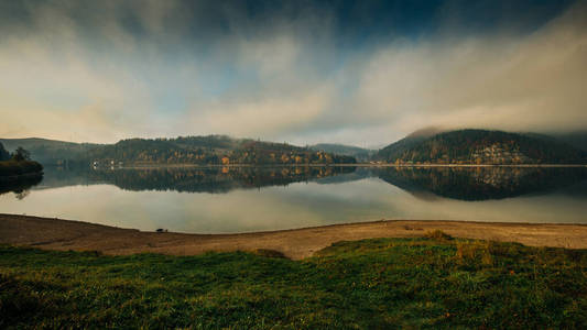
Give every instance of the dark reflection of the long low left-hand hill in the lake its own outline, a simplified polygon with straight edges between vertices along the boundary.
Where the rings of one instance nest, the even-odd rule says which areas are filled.
[[[40,188],[111,184],[126,190],[228,193],[350,174],[355,167],[155,167],[57,170]]]

